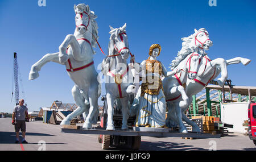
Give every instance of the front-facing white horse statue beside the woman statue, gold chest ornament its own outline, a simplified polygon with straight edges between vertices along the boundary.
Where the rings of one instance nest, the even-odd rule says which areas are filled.
[[[129,118],[129,95],[135,93],[131,66],[126,60],[130,55],[128,39],[126,35],[126,23],[121,28],[110,26],[109,55],[102,61],[102,73],[106,78],[106,100],[108,104],[108,121],[106,130],[115,130],[113,122],[113,105],[116,98],[122,105],[122,130],[126,130]],[[131,55],[132,56],[132,55]],[[131,57],[134,59],[134,56]]]

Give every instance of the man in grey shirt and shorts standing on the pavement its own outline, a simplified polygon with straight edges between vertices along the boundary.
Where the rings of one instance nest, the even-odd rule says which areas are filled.
[[[28,113],[27,113],[27,106],[24,106],[23,104],[24,104],[24,99],[20,99],[19,105],[15,106],[13,109],[12,124],[15,125],[15,132],[16,132],[15,143],[19,143],[19,130],[22,131],[22,143],[28,143],[25,140],[26,121],[28,121]]]

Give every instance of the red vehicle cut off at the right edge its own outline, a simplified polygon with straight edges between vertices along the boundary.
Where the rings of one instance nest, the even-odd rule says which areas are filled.
[[[248,106],[248,123],[249,138],[256,146],[256,103],[250,103]]]

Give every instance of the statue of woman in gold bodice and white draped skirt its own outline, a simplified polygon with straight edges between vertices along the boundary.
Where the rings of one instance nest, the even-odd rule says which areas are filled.
[[[166,123],[166,99],[163,93],[161,76],[172,76],[175,72],[167,72],[164,65],[156,60],[160,55],[161,46],[152,44],[147,60],[142,61],[141,67],[141,95],[138,106],[136,126],[137,127],[165,127]],[[139,91],[140,92],[140,91]]]

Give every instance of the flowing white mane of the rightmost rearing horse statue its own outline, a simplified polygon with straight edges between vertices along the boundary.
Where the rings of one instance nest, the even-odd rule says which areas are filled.
[[[171,70],[174,70],[177,65],[179,65],[179,63],[185,59],[185,57],[187,57],[190,53],[193,53],[193,52],[196,52],[197,51],[197,48],[196,45],[195,45],[195,36],[197,33],[201,32],[201,31],[204,31],[204,32],[207,32],[207,30],[205,30],[205,28],[200,28],[198,31],[195,30],[195,33],[188,36],[188,37],[185,37],[185,38],[181,38],[181,40],[183,40],[183,43],[182,43],[182,47],[180,49],[180,51],[177,53],[177,57],[175,57],[174,60],[172,60],[172,63],[170,64],[171,67]],[[208,34],[208,32],[207,32]]]

